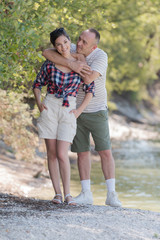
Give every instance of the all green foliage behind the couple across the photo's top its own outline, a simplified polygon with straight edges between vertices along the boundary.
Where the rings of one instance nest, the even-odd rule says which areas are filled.
[[[160,68],[159,0],[3,0],[0,6],[0,87],[28,92],[49,47],[49,33],[63,26],[73,42],[94,27],[109,56],[107,88],[141,93]],[[138,96],[138,95],[137,95]]]

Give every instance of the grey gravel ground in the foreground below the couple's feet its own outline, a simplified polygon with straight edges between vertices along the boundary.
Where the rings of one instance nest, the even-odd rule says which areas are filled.
[[[160,213],[0,194],[1,240],[160,239]]]

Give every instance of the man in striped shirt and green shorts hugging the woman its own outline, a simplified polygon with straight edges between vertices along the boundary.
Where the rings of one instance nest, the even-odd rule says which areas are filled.
[[[69,66],[72,70],[82,75],[85,83],[95,82],[95,96],[77,119],[77,133],[71,150],[78,154],[78,169],[82,191],[75,198],[79,204],[93,204],[90,188],[90,133],[92,134],[95,150],[101,158],[102,171],[106,180],[107,198],[106,205],[120,207],[115,191],[115,164],[112,156],[107,114],[107,92],[105,88],[106,70],[108,65],[107,54],[97,47],[100,34],[95,29],[88,29],[81,33],[77,45],[72,44],[72,51],[83,54],[85,63],[71,62],[58,56],[54,50],[48,49],[43,55],[57,64]],[[77,68],[77,65],[79,68]],[[90,72],[88,72],[91,70]],[[87,73],[87,74],[86,74]],[[77,96],[77,107],[84,98],[83,89],[80,88]]]

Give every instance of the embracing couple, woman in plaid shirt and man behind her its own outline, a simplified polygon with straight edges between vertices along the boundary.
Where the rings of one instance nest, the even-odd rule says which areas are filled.
[[[98,48],[100,34],[95,29],[83,31],[77,44],[72,44],[63,28],[50,33],[53,49],[46,49],[47,59],[38,73],[33,92],[40,111],[37,120],[39,137],[45,139],[48,168],[55,190],[53,203],[63,202],[60,187],[62,179],[64,201],[68,205],[93,204],[90,186],[90,134],[95,150],[101,158],[106,181],[105,204],[120,207],[115,191],[115,163],[112,156],[108,111],[106,71],[107,54]],[[47,94],[41,101],[41,88],[47,85]],[[70,194],[70,163],[68,149],[76,152],[81,193]]]

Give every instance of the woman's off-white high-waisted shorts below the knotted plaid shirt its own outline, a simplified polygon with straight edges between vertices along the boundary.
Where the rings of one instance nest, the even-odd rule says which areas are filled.
[[[63,107],[63,98],[56,98],[54,94],[48,94],[44,100],[47,110],[40,113],[37,120],[38,133],[40,138],[57,139],[72,143],[76,134],[76,98],[68,97],[69,107]]]

